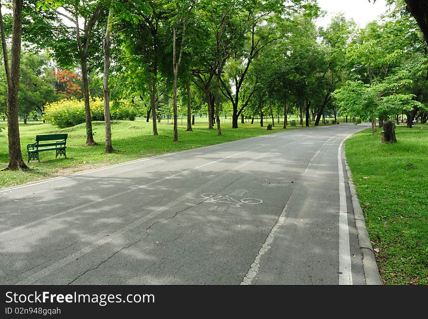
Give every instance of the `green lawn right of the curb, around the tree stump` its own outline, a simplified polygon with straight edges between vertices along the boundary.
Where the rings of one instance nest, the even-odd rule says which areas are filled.
[[[423,129],[421,129],[423,127]],[[385,284],[428,283],[428,126],[396,127],[396,144],[380,132],[346,141],[346,159]]]

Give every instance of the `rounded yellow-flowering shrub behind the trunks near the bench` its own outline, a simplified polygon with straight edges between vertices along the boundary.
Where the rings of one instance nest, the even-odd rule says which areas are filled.
[[[90,101],[90,114],[93,121],[104,121],[104,102],[100,98]],[[110,102],[110,115],[114,120],[135,119],[137,112],[129,102]],[[83,100],[62,100],[45,105],[43,117],[47,122],[66,128],[85,123],[85,102]]]

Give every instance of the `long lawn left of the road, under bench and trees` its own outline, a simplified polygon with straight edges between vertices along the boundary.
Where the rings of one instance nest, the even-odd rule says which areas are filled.
[[[41,163],[31,161],[28,164],[30,169],[26,172],[0,172],[0,189],[144,157],[284,131],[283,125],[277,123],[273,131],[267,131],[267,124],[271,122],[271,120],[265,119],[264,127],[260,127],[260,123],[251,125],[248,122],[245,124],[239,122],[239,129],[231,129],[230,123],[222,122],[222,136],[218,136],[216,125],[214,130],[208,130],[208,124],[196,124],[193,126],[193,132],[187,132],[186,120],[183,120],[184,125],[180,125],[179,120],[178,143],[174,143],[173,126],[165,120],[158,123],[159,136],[152,135],[151,121],[149,123],[142,119],[114,121],[112,123],[113,148],[119,151],[111,154],[104,152],[104,122],[92,122],[94,139],[99,143],[98,146],[93,147],[84,146],[86,143],[85,124],[58,129],[56,126],[43,124],[40,121],[29,121],[29,124],[26,125],[20,123],[21,149],[25,162],[27,162],[26,146],[34,143],[36,134],[68,133],[67,158],[55,158],[54,151],[41,152],[39,155]],[[5,128],[6,126],[5,122],[0,121],[0,127]],[[286,130],[298,128],[288,127]],[[7,131],[3,130],[0,132],[0,169],[7,167],[8,161]]]

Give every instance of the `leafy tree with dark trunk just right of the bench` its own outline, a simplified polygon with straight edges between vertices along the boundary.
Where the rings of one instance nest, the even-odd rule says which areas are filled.
[[[96,65],[100,61],[95,62],[94,57],[101,56],[104,27],[99,20],[108,2],[53,0],[40,1],[36,8],[34,5],[26,7],[28,17],[25,20],[25,39],[38,47],[52,50],[54,58],[62,67],[80,65],[87,146],[96,145],[89,108],[88,74],[94,67],[100,67]]]

